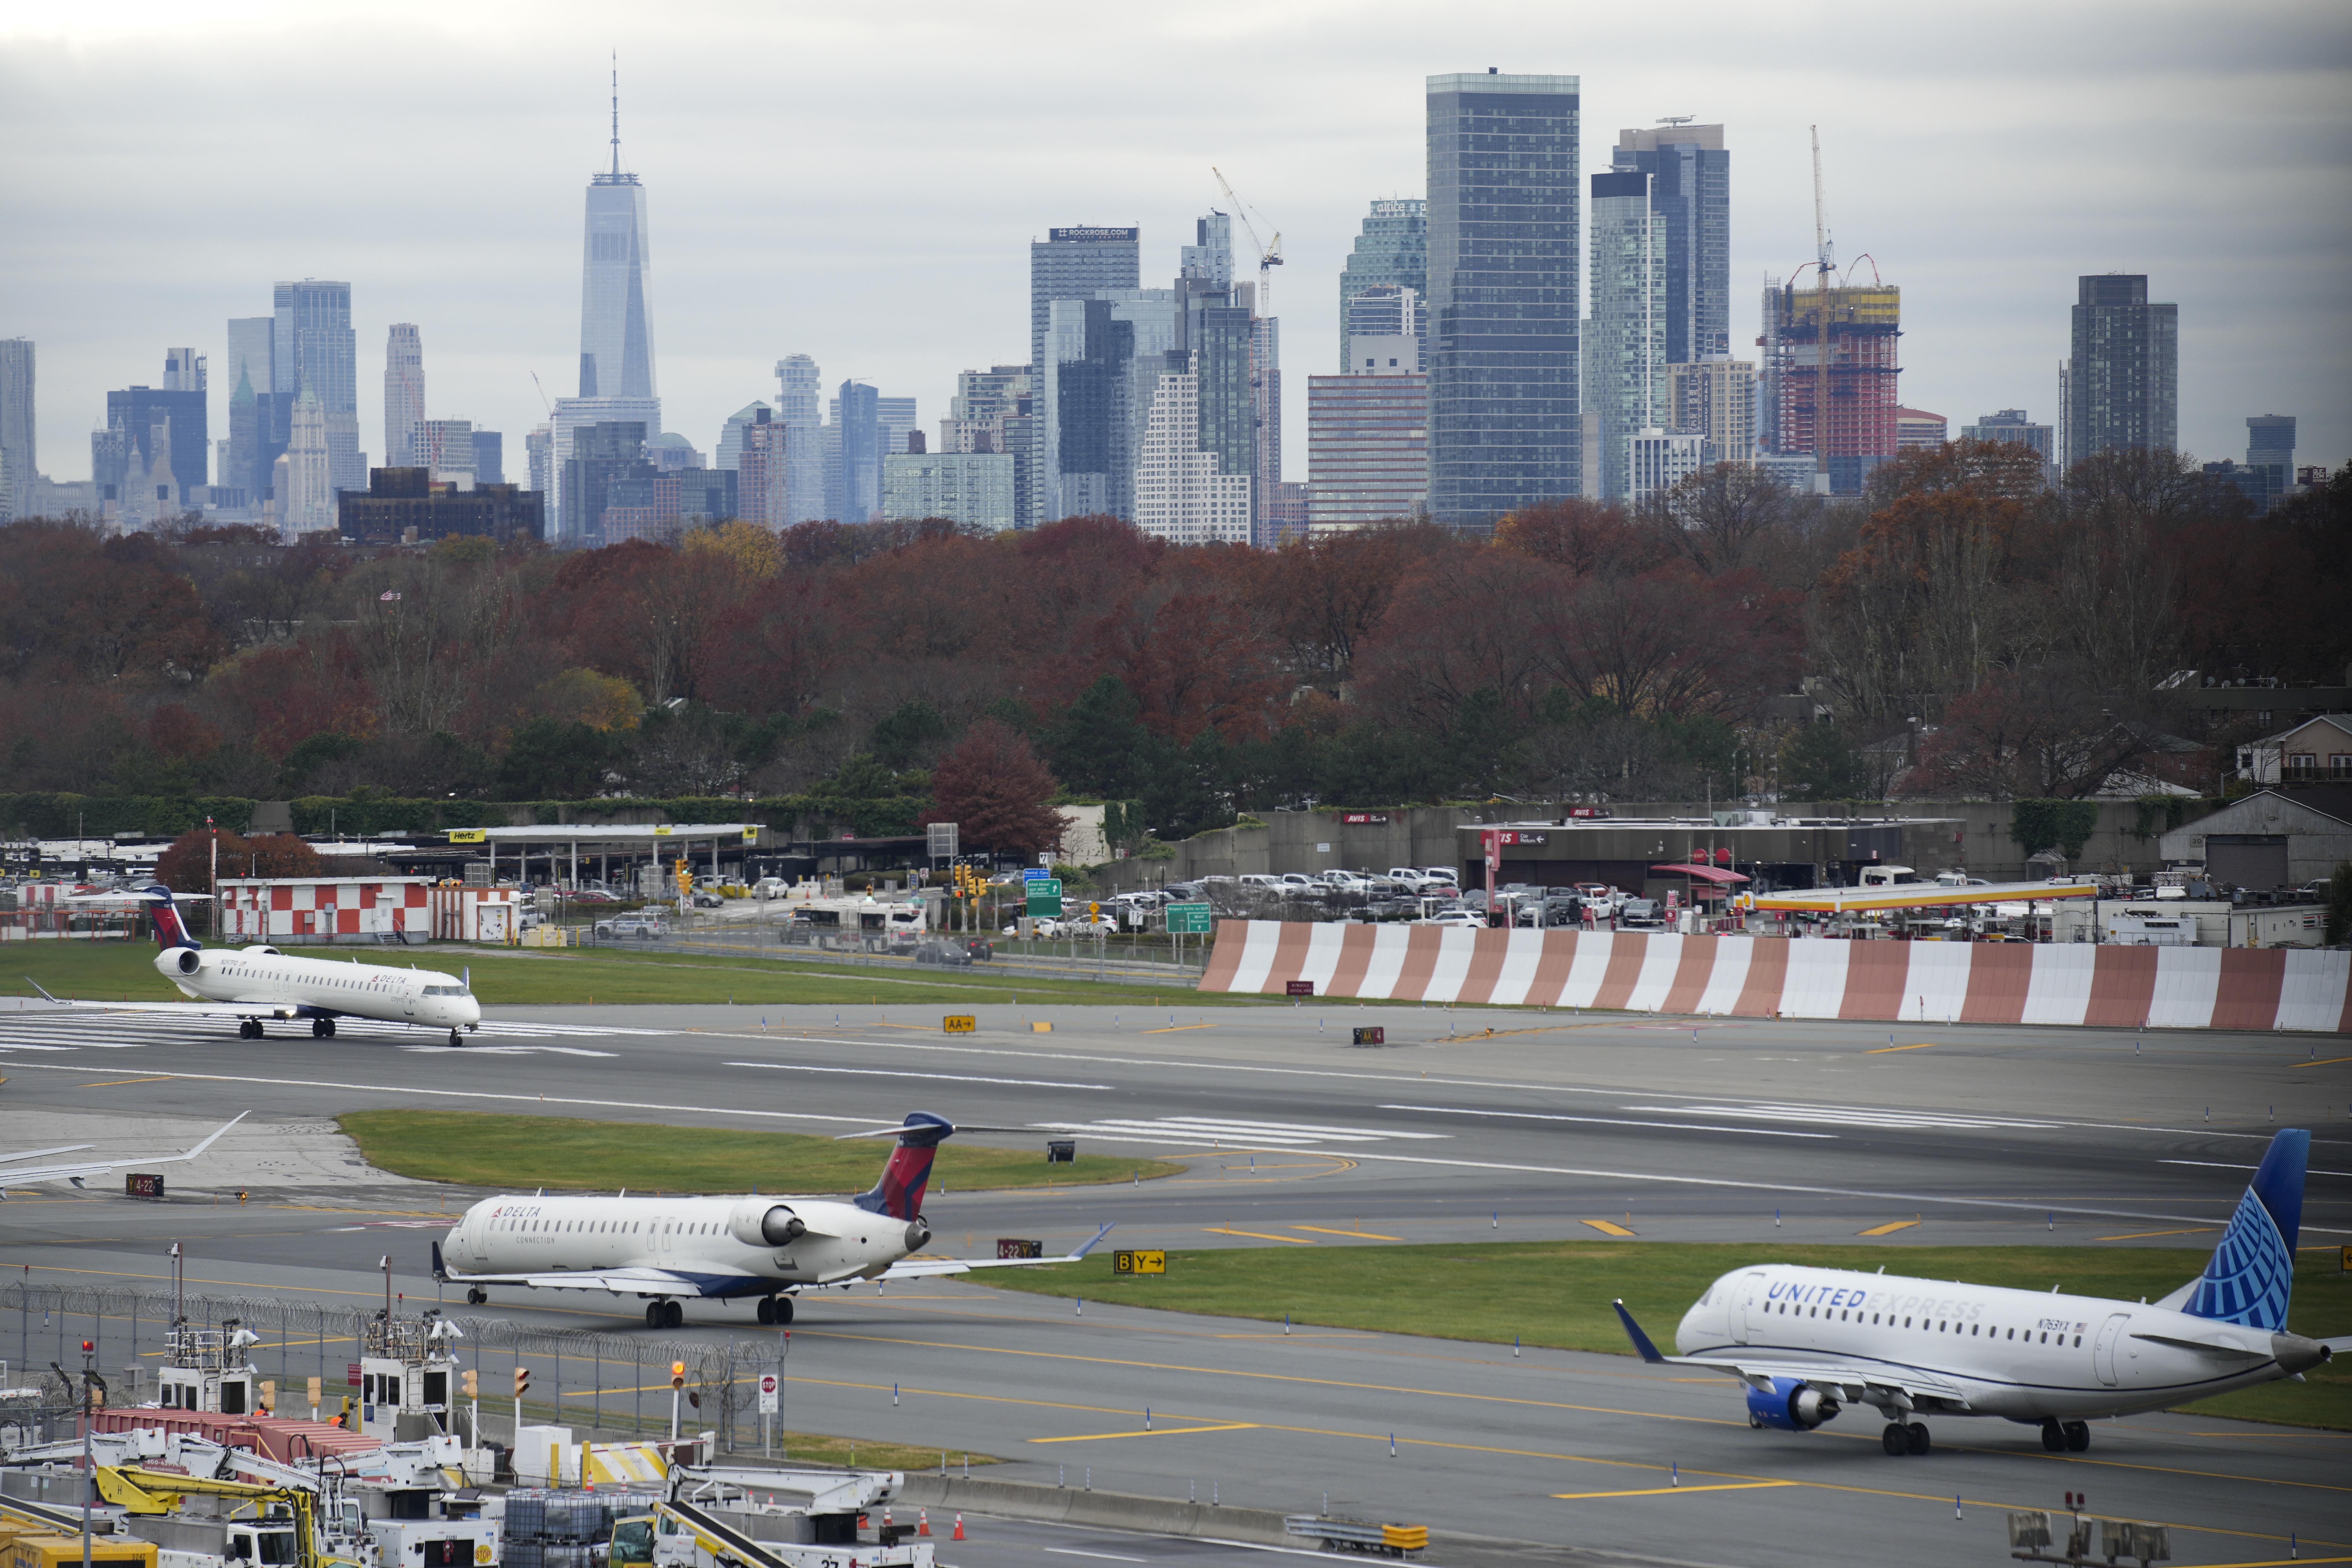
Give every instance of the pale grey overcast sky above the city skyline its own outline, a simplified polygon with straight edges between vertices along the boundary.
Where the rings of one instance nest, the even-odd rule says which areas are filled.
[[[160,386],[167,346],[219,367],[273,280],[339,277],[372,461],[386,327],[416,322],[428,414],[503,430],[522,477],[532,374],[576,390],[609,49],[663,425],[706,454],[786,353],[936,430],[955,371],[1025,357],[1033,237],[1141,223],[1164,284],[1216,165],[1282,233],[1305,480],[1364,205],[1423,193],[1423,78],[1498,66],[1583,78],[1588,174],[1621,127],[1724,122],[1736,346],[1811,256],[1818,122],[1839,256],[1903,287],[1905,404],[2051,421],[2077,275],[2147,273],[2180,306],[2185,449],[2244,458],[2249,414],[2293,414],[2298,463],[2352,456],[2340,0],[0,0],[0,336],[38,341],[42,470],[87,480],[106,390]]]

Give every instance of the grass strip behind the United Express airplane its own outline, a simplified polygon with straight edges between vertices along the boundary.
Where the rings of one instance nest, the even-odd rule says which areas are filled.
[[[1745,1246],[1670,1241],[1491,1241],[1435,1246],[1216,1248],[1169,1253],[1164,1276],[1120,1276],[1110,1255],[1049,1269],[997,1269],[985,1284],[1042,1295],[1087,1295],[1129,1307],[1209,1312],[1331,1328],[1425,1333],[1508,1345],[1632,1354],[1611,1300],[1665,1345],[1708,1284],[1755,1262],[1889,1269],[1922,1279],[2154,1300],[2194,1279],[2209,1251],[2138,1246]],[[2312,1338],[2352,1333],[2352,1279],[2336,1248],[2296,1267],[2288,1326]],[[2352,1356],[2307,1373],[2206,1399],[2192,1410],[2352,1429]],[[1726,1399],[1731,1394],[1726,1392]]]

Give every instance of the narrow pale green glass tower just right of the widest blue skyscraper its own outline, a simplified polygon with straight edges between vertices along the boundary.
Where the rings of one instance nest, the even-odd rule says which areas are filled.
[[[1649,174],[1592,176],[1592,317],[1583,334],[1583,414],[1599,475],[1583,494],[1632,496],[1632,437],[1665,428],[1665,214],[1649,202]]]

